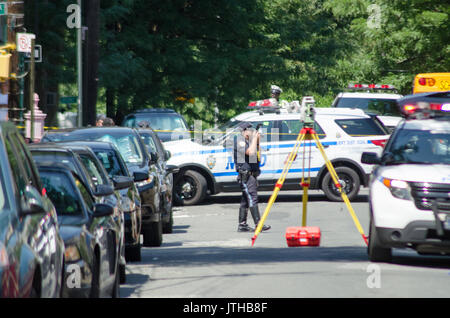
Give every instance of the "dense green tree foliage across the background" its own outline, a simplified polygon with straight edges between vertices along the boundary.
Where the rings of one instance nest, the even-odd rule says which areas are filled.
[[[68,90],[70,2],[38,5],[49,58],[40,67]],[[212,124],[216,105],[224,121],[269,97],[271,84],[321,107],[349,82],[410,93],[417,73],[450,68],[449,14],[431,0],[102,0],[98,107],[170,107]]]

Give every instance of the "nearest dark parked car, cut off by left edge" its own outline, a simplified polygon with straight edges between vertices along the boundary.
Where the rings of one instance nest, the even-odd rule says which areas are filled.
[[[55,207],[23,138],[0,122],[0,297],[59,297],[63,262]]]

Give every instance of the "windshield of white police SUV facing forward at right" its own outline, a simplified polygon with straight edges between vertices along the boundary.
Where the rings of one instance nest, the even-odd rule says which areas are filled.
[[[386,152],[389,164],[450,164],[450,130],[401,130]]]

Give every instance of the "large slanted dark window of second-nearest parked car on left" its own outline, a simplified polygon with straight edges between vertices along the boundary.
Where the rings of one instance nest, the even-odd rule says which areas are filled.
[[[40,176],[58,215],[82,214],[81,198],[67,174],[41,170]]]

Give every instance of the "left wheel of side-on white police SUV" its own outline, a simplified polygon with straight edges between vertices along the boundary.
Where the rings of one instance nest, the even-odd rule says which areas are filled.
[[[194,205],[206,196],[206,179],[197,171],[187,170],[177,180],[175,200],[178,204]]]

